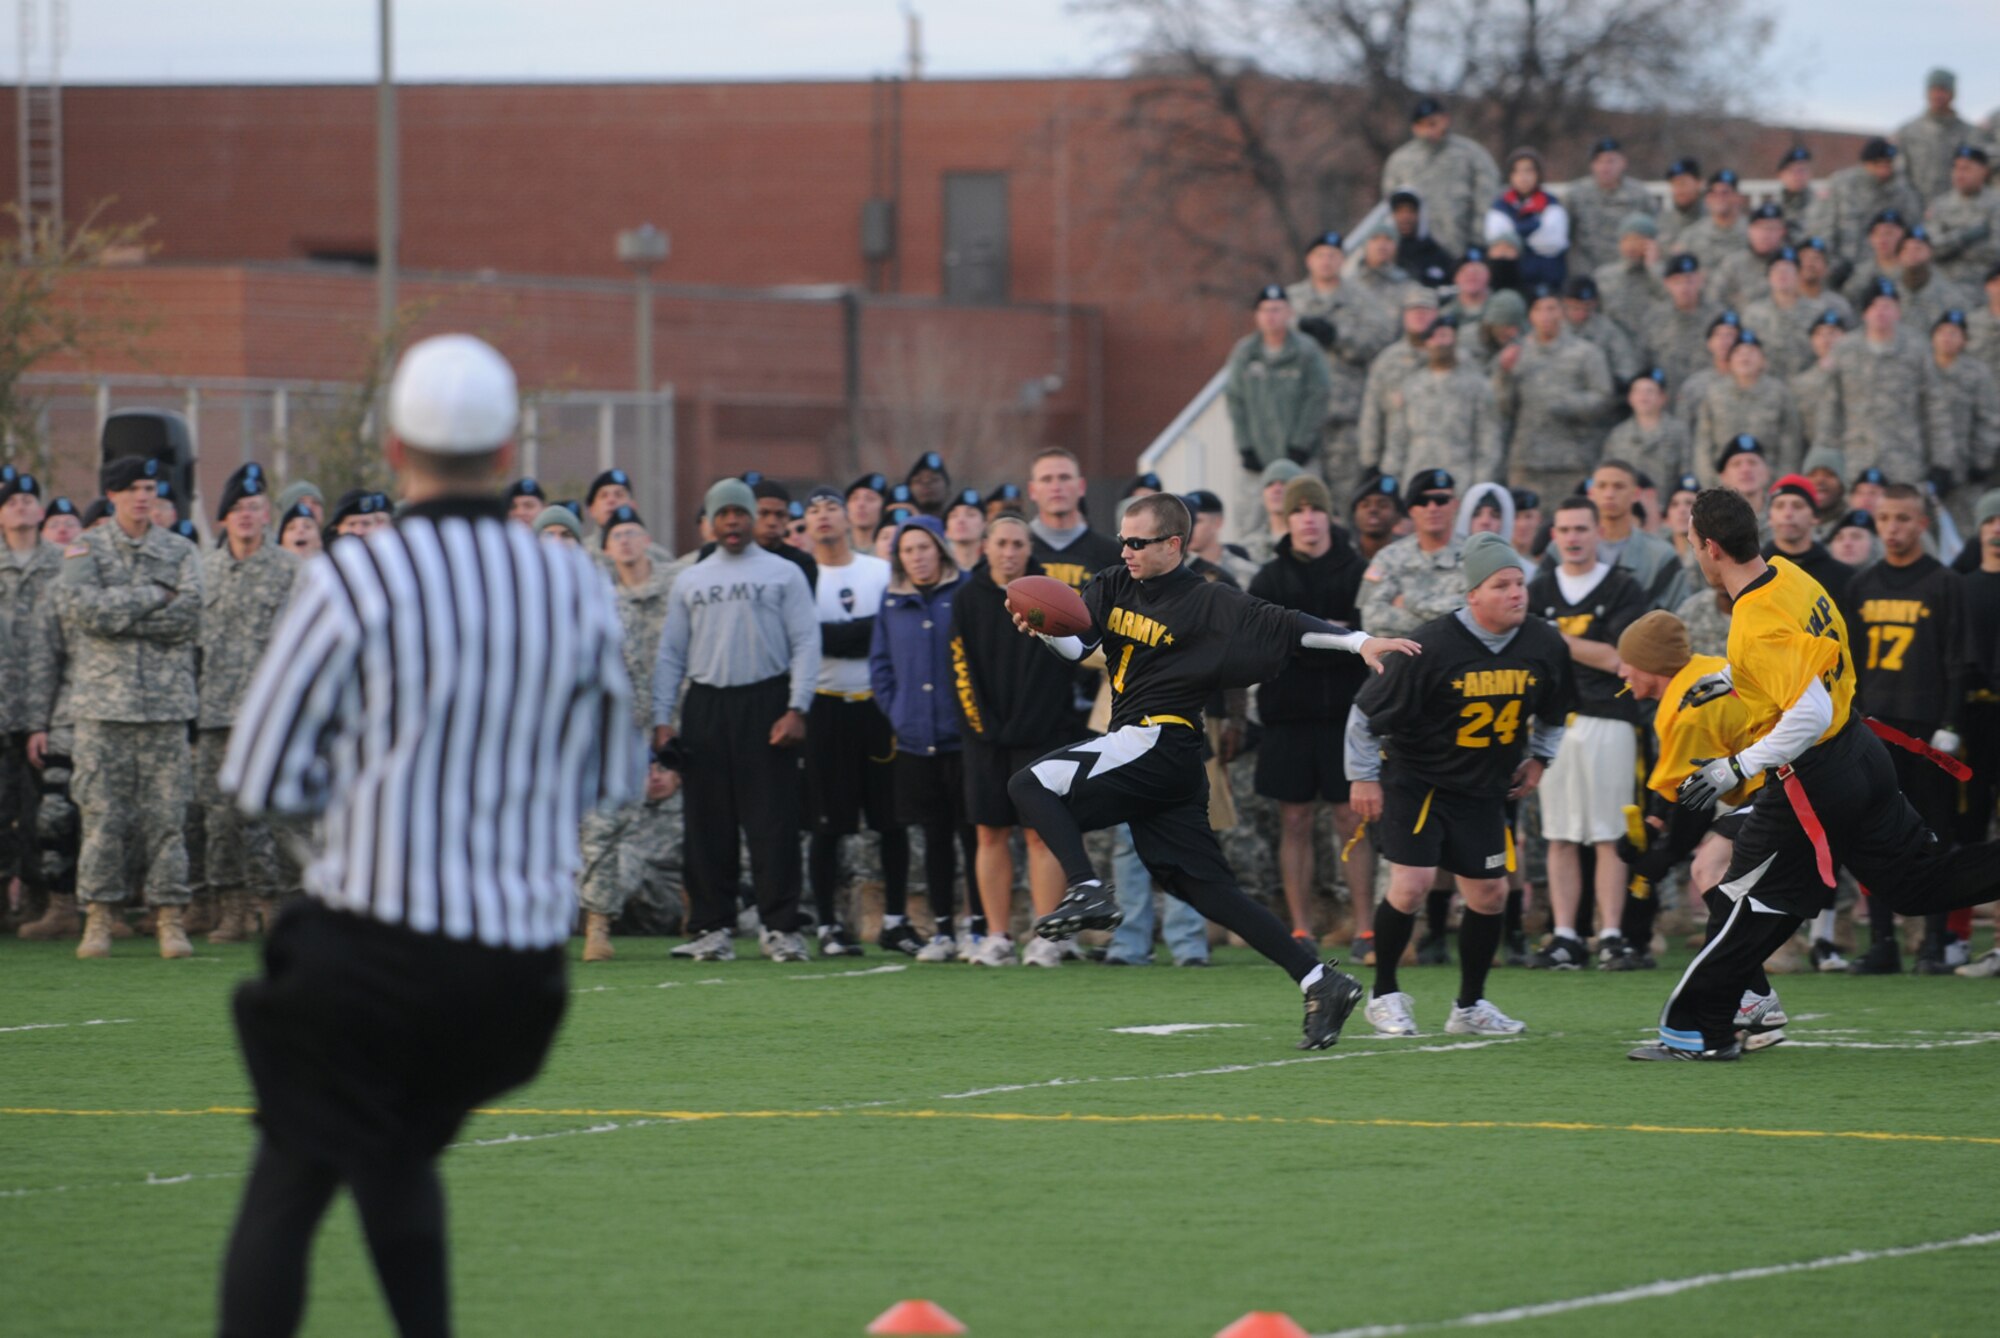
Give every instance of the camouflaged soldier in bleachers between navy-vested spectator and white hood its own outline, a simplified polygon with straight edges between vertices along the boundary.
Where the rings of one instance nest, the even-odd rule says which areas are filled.
[[[1562,298],[1552,290],[1536,290],[1528,328],[1528,338],[1494,360],[1508,482],[1566,498],[1602,456],[1614,404],[1612,370],[1594,344],[1568,332]]]

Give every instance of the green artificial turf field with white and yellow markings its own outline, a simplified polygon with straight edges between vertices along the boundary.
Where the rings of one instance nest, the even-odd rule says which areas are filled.
[[[254,950],[148,946],[0,944],[0,1028],[64,1024],[0,1030],[0,1332],[214,1330],[252,1130],[202,1112],[248,1104],[226,1000]],[[1424,1038],[1356,1016],[1304,1056],[1296,990],[1244,952],[1040,972],[668,946],[574,970],[548,1068],[502,1102],[562,1114],[476,1116],[448,1154],[460,1332],[858,1336],[906,1296],[974,1338],[1208,1338],[1246,1310],[1422,1332],[2000,1232],[1990,980],[1782,978],[1792,1038],[1824,1048],[1708,1066],[1624,1060],[1672,970],[1498,970],[1530,1032],[1454,1052],[1428,1046],[1462,1044],[1456,972],[1416,968]],[[1174,1022],[1236,1026],[1112,1030]],[[168,1110],[194,1114],[144,1114]],[[1502,1330],[1990,1332],[1996,1270],[1984,1244]],[[342,1204],[306,1332],[386,1328]]]

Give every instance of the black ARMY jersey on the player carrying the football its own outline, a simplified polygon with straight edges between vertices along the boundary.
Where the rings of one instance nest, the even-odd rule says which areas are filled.
[[[1294,654],[1346,654],[1300,648],[1304,632],[1326,626],[1320,620],[1202,580],[1186,566],[1152,580],[1132,580],[1122,564],[1108,568],[1084,586],[1084,604],[1104,646],[1114,730],[1146,716],[1200,728],[1216,688],[1274,678]]]

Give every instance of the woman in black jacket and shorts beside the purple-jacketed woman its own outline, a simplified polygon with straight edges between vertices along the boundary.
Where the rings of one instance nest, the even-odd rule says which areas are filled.
[[[1014,628],[1006,586],[1040,576],[1030,556],[1032,534],[1020,516],[996,516],[986,530],[986,560],[972,572],[952,608],[952,680],[964,720],[966,816],[978,828],[978,886],[986,906],[986,938],[972,960],[980,966],[1014,966],[1008,934],[1014,914],[1014,854],[1008,846],[1020,826],[1006,782],[1056,748],[1078,740],[1074,670],[1048,654],[1032,636]],[[1034,914],[1062,900],[1062,866],[1032,828],[1028,890]],[[1060,966],[1062,950],[1042,938],[1028,942],[1028,962]]]

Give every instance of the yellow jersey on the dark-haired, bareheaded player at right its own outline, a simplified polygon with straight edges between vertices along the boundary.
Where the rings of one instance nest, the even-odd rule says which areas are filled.
[[[1770,570],[1736,596],[1730,610],[1730,670],[1736,696],[1748,710],[1744,746],[1770,734],[1778,716],[1814,680],[1834,700],[1834,722],[1814,744],[1824,744],[1848,724],[1854,708],[1848,624],[1826,588],[1784,558],[1770,558]]]

